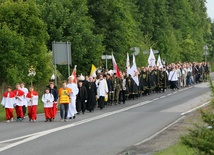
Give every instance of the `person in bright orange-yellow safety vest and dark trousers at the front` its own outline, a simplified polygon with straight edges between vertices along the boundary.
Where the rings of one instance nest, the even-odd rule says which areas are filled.
[[[60,103],[60,122],[67,121],[68,108],[70,103],[70,95],[72,90],[67,87],[66,82],[62,83],[62,87],[59,89],[59,103]]]

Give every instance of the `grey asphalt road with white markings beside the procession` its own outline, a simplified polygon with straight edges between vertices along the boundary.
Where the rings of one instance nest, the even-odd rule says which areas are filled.
[[[209,100],[208,83],[152,94],[68,122],[0,123],[0,155],[115,155]]]

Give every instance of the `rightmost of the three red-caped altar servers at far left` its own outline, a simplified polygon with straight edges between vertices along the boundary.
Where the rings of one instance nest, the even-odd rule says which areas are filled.
[[[38,93],[34,91],[34,87],[30,86],[29,92],[26,95],[27,103],[28,103],[28,117],[29,121],[36,122],[37,119],[37,106],[38,106]]]

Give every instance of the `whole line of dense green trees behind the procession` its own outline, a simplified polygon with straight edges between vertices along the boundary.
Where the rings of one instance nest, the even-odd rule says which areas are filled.
[[[72,66],[88,74],[101,55],[114,53],[125,70],[130,47],[160,51],[168,63],[201,61],[203,46],[213,51],[213,23],[206,0],[0,0],[0,83],[35,82],[53,74],[52,42],[70,41]],[[136,57],[147,65],[147,55]],[[103,65],[104,66],[104,65]],[[67,76],[66,66],[58,71]]]

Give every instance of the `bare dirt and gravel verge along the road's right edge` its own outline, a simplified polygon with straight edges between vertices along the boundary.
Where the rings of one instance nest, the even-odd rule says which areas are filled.
[[[206,110],[204,108],[203,110]],[[167,130],[163,131],[153,139],[140,144],[131,146],[118,155],[150,155],[154,152],[166,149],[177,143],[182,135],[188,133],[188,129],[193,128],[195,123],[201,122],[201,112],[195,111],[187,115],[184,119],[179,120]]]

